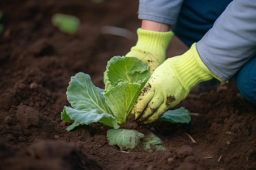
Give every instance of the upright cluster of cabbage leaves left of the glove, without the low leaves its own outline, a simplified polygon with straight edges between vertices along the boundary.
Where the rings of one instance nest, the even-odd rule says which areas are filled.
[[[149,67],[141,60],[120,56],[110,59],[106,66],[105,90],[94,86],[88,74],[77,73],[71,77],[66,93],[72,107],[64,106],[61,120],[74,121],[68,131],[92,122],[118,129],[149,77]]]

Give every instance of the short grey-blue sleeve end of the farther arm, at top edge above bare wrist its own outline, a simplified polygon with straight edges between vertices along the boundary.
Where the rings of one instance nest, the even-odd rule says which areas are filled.
[[[183,0],[139,0],[139,19],[175,25]]]

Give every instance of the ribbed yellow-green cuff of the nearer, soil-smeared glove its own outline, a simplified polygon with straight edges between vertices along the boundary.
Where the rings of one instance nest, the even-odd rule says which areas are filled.
[[[171,67],[175,70],[177,78],[187,94],[196,84],[214,78],[214,75],[201,61],[196,50],[196,43],[183,55],[169,59],[172,59]]]

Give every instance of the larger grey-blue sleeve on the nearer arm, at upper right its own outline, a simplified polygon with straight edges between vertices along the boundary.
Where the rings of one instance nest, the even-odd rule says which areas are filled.
[[[234,0],[196,44],[208,69],[226,82],[256,56],[256,1]]]

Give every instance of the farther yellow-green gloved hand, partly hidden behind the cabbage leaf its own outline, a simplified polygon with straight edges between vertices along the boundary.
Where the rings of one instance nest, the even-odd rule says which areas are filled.
[[[137,29],[138,41],[133,46],[126,57],[137,57],[150,66],[152,74],[156,67],[166,59],[166,49],[174,33],[148,31],[146,29]]]

